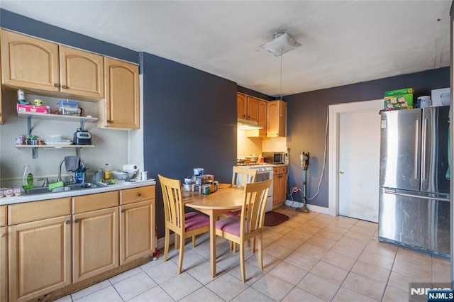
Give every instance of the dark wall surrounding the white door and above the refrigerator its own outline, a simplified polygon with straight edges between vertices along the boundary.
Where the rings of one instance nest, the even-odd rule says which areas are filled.
[[[310,154],[307,179],[308,196],[316,194],[323,167],[326,116],[329,105],[382,99],[384,91],[409,87],[414,88],[414,100],[416,100],[418,96],[430,96],[432,89],[449,87],[449,79],[450,69],[444,67],[285,96],[284,100],[287,101],[287,147],[289,147],[290,162],[288,187],[301,187],[302,170],[299,167],[299,152],[302,150]],[[320,193],[309,203],[328,207],[328,167],[328,158],[326,158]],[[294,200],[301,201],[301,194],[294,194]]]

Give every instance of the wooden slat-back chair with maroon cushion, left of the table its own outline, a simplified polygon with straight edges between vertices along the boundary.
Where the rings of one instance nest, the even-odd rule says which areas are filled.
[[[179,247],[178,274],[182,272],[184,240],[192,237],[192,247],[196,244],[196,235],[209,232],[209,217],[198,212],[184,213],[182,184],[177,179],[170,179],[158,174],[162,189],[165,216],[164,261],[167,261],[170,243],[170,230],[175,233],[175,249]]]

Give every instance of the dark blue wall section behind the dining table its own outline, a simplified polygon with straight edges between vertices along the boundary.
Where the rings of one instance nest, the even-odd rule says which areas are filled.
[[[230,183],[236,164],[236,83],[198,69],[141,54],[144,164],[151,177],[175,179],[202,167]],[[163,234],[162,194],[156,188],[158,233]]]

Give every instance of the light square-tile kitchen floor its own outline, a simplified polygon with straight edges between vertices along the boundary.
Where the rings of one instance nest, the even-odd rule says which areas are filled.
[[[447,259],[378,242],[377,223],[275,209],[290,219],[264,233],[264,270],[250,249],[246,283],[239,253],[217,238],[211,278],[209,235],[187,241],[183,272],[177,250],[57,301],[408,301],[409,282],[449,282]],[[162,252],[162,250],[160,251]]]

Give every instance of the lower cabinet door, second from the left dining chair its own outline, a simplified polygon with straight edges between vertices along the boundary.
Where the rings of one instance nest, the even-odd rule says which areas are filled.
[[[118,206],[72,216],[72,281],[118,267]]]

